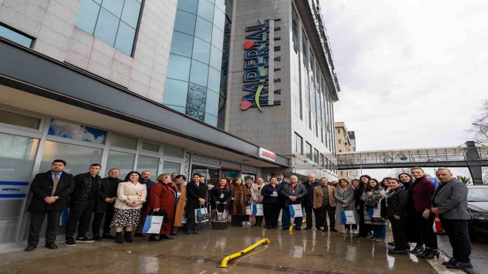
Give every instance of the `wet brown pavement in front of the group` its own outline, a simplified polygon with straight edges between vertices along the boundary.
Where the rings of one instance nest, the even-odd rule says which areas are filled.
[[[424,259],[389,256],[386,243],[340,232],[302,230],[290,234],[254,226],[229,226],[228,230],[205,226],[199,235],[175,237],[163,242],[133,237],[134,243],[124,244],[104,239],[75,247],[58,244],[57,250],[39,245],[33,252],[0,253],[0,273],[436,273]],[[264,237],[272,243],[229,261],[226,269],[217,268],[225,256]]]

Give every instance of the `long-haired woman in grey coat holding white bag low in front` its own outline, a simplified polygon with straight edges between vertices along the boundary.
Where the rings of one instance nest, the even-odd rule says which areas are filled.
[[[339,180],[338,186],[334,191],[334,199],[336,200],[336,220],[339,220],[344,225],[342,233],[347,234],[351,229],[351,224],[343,222],[341,212],[343,210],[350,210],[354,214],[354,219],[356,221],[359,220],[359,215],[356,211],[356,201],[354,200],[354,189],[347,179]],[[354,227],[353,230],[355,230]]]

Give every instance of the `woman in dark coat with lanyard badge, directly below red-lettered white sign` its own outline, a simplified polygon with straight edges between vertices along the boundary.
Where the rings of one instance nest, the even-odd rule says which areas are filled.
[[[280,193],[283,189],[281,184],[276,184],[278,180],[271,177],[269,184],[261,188],[261,195],[263,198],[263,214],[266,228],[278,228],[278,217],[280,216],[281,203]]]

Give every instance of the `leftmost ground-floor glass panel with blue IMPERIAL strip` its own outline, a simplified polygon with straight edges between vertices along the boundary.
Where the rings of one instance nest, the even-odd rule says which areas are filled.
[[[15,241],[38,147],[39,139],[0,133],[0,244]]]

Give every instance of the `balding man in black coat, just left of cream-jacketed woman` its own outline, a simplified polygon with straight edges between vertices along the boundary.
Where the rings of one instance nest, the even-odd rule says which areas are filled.
[[[112,168],[108,171],[108,177],[102,179],[100,197],[95,205],[95,214],[92,221],[93,239],[96,241],[101,241],[102,238],[115,239],[114,236],[110,235],[110,222],[114,217],[117,188],[119,183],[123,182],[118,178],[120,174],[120,169]],[[103,221],[103,234],[100,237],[100,224],[102,223],[103,215],[105,215],[105,220]]]

